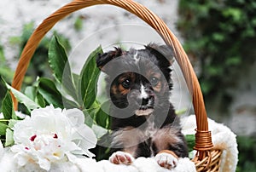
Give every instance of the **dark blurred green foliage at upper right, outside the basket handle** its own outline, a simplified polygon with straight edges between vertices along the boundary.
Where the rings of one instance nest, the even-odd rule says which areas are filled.
[[[256,3],[253,0],[181,0],[178,29],[206,100],[220,97],[227,106],[230,89],[256,60]]]

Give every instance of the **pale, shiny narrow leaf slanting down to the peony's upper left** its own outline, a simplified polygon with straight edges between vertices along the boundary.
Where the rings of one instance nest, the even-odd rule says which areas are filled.
[[[24,104],[27,109],[32,110],[32,109],[36,109],[40,106],[38,106],[37,103],[35,103],[33,100],[31,100],[30,98],[28,98],[26,95],[20,93],[20,91],[18,91],[17,89],[12,88],[8,83],[5,83],[7,88],[13,93],[13,95],[15,95],[15,98],[22,104]]]

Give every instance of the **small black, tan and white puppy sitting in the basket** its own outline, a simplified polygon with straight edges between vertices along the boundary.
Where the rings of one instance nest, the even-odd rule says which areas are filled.
[[[112,163],[154,157],[172,169],[188,157],[179,119],[170,103],[173,51],[154,43],[145,49],[116,48],[99,54],[96,65],[107,74],[112,129]]]

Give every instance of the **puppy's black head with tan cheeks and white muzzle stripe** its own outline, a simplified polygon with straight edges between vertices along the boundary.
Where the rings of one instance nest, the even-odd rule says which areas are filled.
[[[165,50],[161,53],[160,50]],[[165,108],[169,104],[170,58],[167,47],[155,44],[146,49],[116,49],[99,55],[97,66],[105,72],[110,98],[119,109],[129,109],[137,116],[148,116],[156,108]]]

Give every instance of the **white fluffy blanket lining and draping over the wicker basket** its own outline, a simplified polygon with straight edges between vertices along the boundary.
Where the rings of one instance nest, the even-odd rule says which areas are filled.
[[[236,144],[236,135],[223,124],[215,123],[211,119],[208,120],[209,129],[212,131],[212,142],[218,149],[224,150],[222,155],[221,171],[236,171],[236,163],[238,161],[238,151]],[[183,134],[195,134],[195,115],[182,118]],[[13,154],[0,147],[0,167],[1,171],[44,171],[38,169],[35,165],[26,165],[22,169],[15,168]],[[33,170],[32,170],[33,169]],[[169,170],[161,168],[154,158],[137,158],[131,165],[116,165],[109,163],[107,160],[96,162],[95,159],[78,158],[75,163],[63,162],[51,165],[50,171],[82,171],[82,172],[194,172],[195,165],[189,158],[179,158],[177,167]]]

